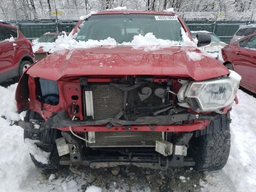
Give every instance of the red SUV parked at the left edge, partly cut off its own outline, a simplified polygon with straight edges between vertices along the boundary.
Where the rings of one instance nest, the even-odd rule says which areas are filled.
[[[30,41],[6,22],[0,22],[0,83],[20,77],[34,63]]]

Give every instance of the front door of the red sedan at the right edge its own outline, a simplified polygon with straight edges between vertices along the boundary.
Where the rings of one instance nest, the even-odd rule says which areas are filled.
[[[256,88],[256,35],[238,43],[234,68],[242,76],[242,82]]]

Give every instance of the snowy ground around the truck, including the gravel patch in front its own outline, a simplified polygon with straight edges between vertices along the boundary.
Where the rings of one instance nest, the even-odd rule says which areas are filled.
[[[14,100],[16,84],[0,87],[0,114],[10,107]],[[174,172],[152,171],[140,176],[145,170],[134,168],[135,178],[120,171],[113,176],[109,170],[88,169],[82,176],[72,174],[68,169],[45,174],[36,168],[28,149],[23,142],[23,130],[0,119],[0,191],[1,192],[104,192],[104,191],[202,191],[202,192],[251,192],[256,188],[256,98],[238,90],[239,105],[234,105],[231,112],[232,145],[226,166],[217,172],[199,173],[186,169],[174,169]],[[11,105],[12,107],[12,105]],[[133,168],[130,168],[131,170]],[[124,171],[123,171],[124,172]],[[96,174],[97,173],[97,174]],[[96,174],[95,182],[87,179]],[[150,175],[156,174],[161,180],[151,183]],[[191,176],[190,176],[191,175]],[[50,179],[49,179],[50,176]],[[186,177],[185,181],[181,180]],[[153,176],[154,177],[154,176]],[[193,178],[194,177],[194,178]],[[132,181],[131,181],[132,180]],[[167,181],[167,182],[166,182]],[[194,186],[196,185],[196,186]],[[96,186],[99,186],[96,187]],[[172,190],[171,190],[172,189]],[[179,190],[182,189],[182,190]]]

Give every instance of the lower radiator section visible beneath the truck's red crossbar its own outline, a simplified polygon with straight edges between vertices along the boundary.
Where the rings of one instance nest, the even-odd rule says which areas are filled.
[[[88,138],[88,133],[86,133]],[[156,139],[164,139],[162,132],[120,131],[95,132],[96,143],[88,147],[154,147]]]

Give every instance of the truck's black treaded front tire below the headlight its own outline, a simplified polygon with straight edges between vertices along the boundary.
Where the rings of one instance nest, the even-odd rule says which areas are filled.
[[[201,136],[190,141],[190,152],[196,162],[195,169],[213,171],[222,169],[230,152],[230,114],[212,121],[202,132]]]

